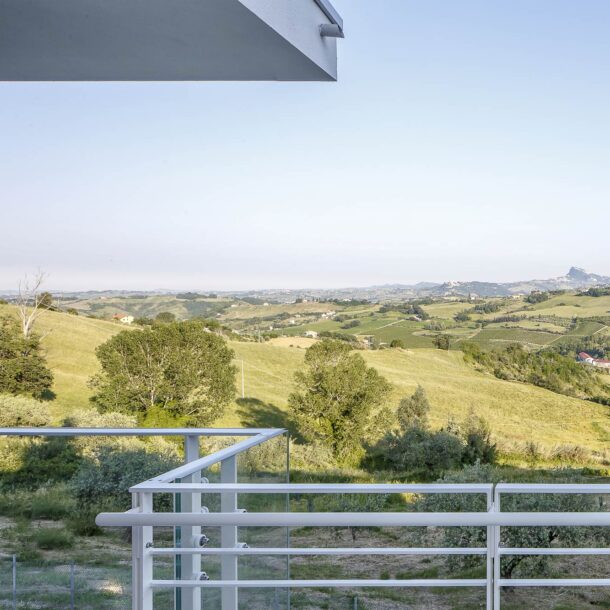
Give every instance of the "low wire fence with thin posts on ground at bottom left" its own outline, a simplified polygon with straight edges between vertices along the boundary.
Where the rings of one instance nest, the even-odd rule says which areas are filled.
[[[8,557],[0,564],[0,608],[23,610],[129,610],[127,567],[62,563],[31,565]]]

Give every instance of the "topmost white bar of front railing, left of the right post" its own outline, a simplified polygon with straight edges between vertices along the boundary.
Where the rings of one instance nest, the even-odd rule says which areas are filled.
[[[139,489],[142,489],[138,486]],[[146,490],[160,493],[240,493],[240,494],[486,494],[493,485],[416,485],[416,484],[349,484],[349,483],[147,483]]]

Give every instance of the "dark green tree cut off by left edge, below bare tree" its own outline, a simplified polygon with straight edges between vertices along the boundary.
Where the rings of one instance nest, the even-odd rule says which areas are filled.
[[[0,392],[42,398],[53,385],[40,347],[40,337],[24,336],[19,322],[0,317]]]

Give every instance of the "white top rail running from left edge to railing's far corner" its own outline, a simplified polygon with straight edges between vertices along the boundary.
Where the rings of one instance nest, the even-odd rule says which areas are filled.
[[[0,428],[0,436],[255,436],[273,431],[270,428]]]

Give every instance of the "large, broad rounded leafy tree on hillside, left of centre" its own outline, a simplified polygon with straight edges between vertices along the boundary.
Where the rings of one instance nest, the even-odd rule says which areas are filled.
[[[91,380],[93,401],[104,412],[207,425],[235,394],[233,351],[200,321],[123,331],[96,353],[102,370]]]

